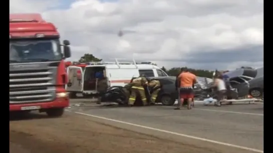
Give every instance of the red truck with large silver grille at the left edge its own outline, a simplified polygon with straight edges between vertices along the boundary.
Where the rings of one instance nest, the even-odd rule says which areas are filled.
[[[41,14],[10,14],[10,112],[63,115],[69,106],[64,61],[71,57],[69,45],[60,43],[57,28]]]

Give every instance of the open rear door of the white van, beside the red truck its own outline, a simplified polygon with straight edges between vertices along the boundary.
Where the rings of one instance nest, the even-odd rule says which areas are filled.
[[[69,66],[67,68],[68,83],[67,91],[82,92],[83,91],[83,70],[78,66]]]

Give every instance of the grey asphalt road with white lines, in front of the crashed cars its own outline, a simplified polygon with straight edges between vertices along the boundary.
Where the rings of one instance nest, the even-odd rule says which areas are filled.
[[[71,104],[84,101],[89,100],[74,99]],[[214,107],[196,103],[192,110],[173,110],[174,106],[127,108],[85,104],[89,106],[72,106],[67,110],[156,137],[212,148],[221,146],[230,153],[263,151],[263,104]]]

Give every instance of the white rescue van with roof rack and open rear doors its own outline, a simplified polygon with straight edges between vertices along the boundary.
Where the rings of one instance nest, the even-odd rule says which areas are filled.
[[[71,97],[76,97],[77,93],[83,96],[98,94],[96,73],[102,73],[107,78],[108,86],[125,86],[132,77],[145,75],[146,77],[168,76],[158,66],[151,62],[89,62],[78,63],[87,64],[85,67],[69,66],[67,68],[68,84],[66,90]]]

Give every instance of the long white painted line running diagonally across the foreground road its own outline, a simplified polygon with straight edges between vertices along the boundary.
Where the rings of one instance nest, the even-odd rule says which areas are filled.
[[[68,112],[72,112],[72,111],[68,111]],[[204,138],[199,138],[199,137],[194,137],[194,136],[179,134],[179,133],[175,133],[175,132],[171,132],[171,131],[166,131],[166,130],[151,128],[151,127],[146,127],[146,126],[142,126],[142,125],[138,125],[138,124],[133,124],[133,123],[129,123],[129,122],[124,122],[124,121],[109,119],[109,118],[100,117],[100,116],[96,116],[96,115],[85,114],[85,113],[81,113],[81,112],[74,112],[74,113],[85,115],[85,116],[89,116],[89,117],[94,117],[94,118],[98,118],[98,119],[103,119],[103,120],[107,120],[107,121],[117,122],[117,123],[121,123],[121,124],[126,124],[126,125],[130,125],[130,126],[135,126],[135,127],[139,127],[139,128],[144,128],[144,129],[154,130],[154,131],[163,132],[163,133],[167,133],[167,134],[172,134],[172,135],[176,135],[176,136],[181,136],[181,137],[186,137],[186,138],[190,138],[190,139],[195,139],[195,140],[200,140],[200,141],[204,141],[204,142],[209,142],[209,143],[213,143],[213,144],[224,145],[224,146],[233,147],[233,148],[242,149],[242,150],[247,150],[247,151],[252,151],[252,152],[256,152],[256,153],[263,153],[263,151],[261,151],[261,150],[247,148],[247,147],[243,147],[243,146],[237,146],[237,145],[222,143],[222,142],[218,142],[218,141],[214,141],[214,140],[209,140],[209,139],[204,139]]]

